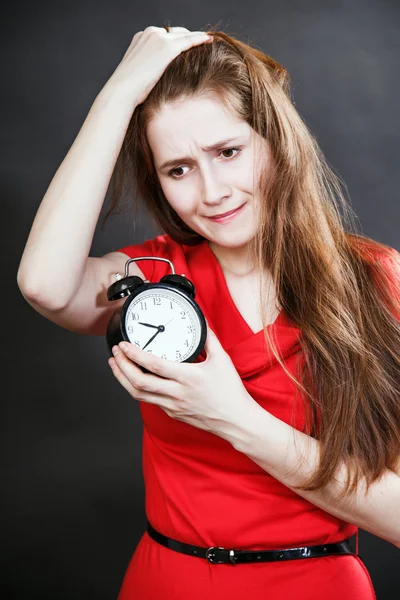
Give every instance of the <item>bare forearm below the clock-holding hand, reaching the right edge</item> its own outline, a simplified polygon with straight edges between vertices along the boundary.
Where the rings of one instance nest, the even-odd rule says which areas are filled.
[[[386,469],[368,494],[362,478],[357,491],[341,499],[348,469],[342,463],[326,488],[298,490],[295,486],[308,478],[319,462],[320,441],[274,417],[256,402],[250,406],[235,424],[220,432],[221,437],[299,496],[400,548],[399,473]]]

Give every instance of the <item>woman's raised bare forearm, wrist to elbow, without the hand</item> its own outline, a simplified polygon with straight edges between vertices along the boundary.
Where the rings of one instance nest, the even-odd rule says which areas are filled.
[[[77,293],[134,108],[109,84],[95,99],[33,222],[17,275],[26,298],[57,310]]]

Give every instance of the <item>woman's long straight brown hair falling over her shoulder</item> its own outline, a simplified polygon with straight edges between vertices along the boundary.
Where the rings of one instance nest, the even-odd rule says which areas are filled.
[[[162,232],[180,244],[204,239],[170,206],[154,167],[146,127],[164,103],[211,95],[267,140],[275,168],[256,184],[263,201],[251,252],[256,271],[271,273],[280,306],[301,330],[296,377],[262,312],[265,338],[303,392],[304,433],[321,442],[319,465],[297,489],[325,487],[344,461],[343,497],[361,478],[367,492],[386,468],[396,470],[400,455],[400,254],[355,232],[342,182],[294,106],[287,70],[234,37],[209,33],[213,43],[178,55],[135,109],[103,224],[124,183],[135,183]],[[262,307],[266,298],[260,278]]]

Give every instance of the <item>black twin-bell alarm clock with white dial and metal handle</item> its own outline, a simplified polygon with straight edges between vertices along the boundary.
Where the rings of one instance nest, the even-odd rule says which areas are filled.
[[[129,275],[129,265],[140,260],[167,262],[172,274],[158,283],[150,283],[137,275]],[[205,317],[194,300],[196,290],[184,274],[175,273],[166,258],[142,256],[125,263],[125,275],[116,273],[107,290],[110,302],[126,297],[125,303],[111,316],[107,325],[108,352],[122,341],[130,342],[149,354],[174,362],[194,362],[202,352],[206,337]],[[142,371],[149,372],[142,365]]]

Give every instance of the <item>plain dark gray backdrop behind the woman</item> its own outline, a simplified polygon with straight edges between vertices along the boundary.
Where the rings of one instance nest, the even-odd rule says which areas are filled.
[[[144,530],[139,408],[105,341],[36,313],[16,284],[50,181],[133,35],[207,24],[256,44],[292,76],[296,106],[346,182],[360,230],[400,250],[399,2],[13,2],[3,14],[3,592],[116,598]],[[92,256],[153,237],[129,215]],[[66,273],[66,277],[68,273]],[[4,277],[4,275],[3,275]],[[398,597],[399,550],[360,532],[379,600]],[[266,595],[266,597],[268,594]]]

